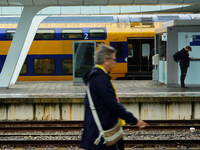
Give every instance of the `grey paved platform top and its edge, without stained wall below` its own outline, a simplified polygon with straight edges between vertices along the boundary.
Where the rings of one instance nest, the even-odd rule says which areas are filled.
[[[152,80],[114,80],[121,102],[200,101],[200,87],[169,88]],[[0,103],[72,102],[82,103],[86,86],[74,86],[73,81],[23,81],[0,89]]]

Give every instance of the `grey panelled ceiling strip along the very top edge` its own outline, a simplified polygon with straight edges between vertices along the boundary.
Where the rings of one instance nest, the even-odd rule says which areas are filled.
[[[199,5],[199,0],[0,0],[0,6]]]

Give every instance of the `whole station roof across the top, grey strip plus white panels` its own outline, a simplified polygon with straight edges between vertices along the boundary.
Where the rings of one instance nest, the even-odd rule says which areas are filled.
[[[20,15],[24,6],[44,6],[38,14],[58,15],[200,12],[199,0],[0,0],[0,15]]]

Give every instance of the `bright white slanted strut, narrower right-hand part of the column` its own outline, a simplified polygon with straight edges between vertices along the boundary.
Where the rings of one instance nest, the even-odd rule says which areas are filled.
[[[47,16],[49,16],[49,15],[36,15],[33,18],[30,29],[28,30],[28,33],[27,33],[27,36],[26,36],[26,39],[25,39],[25,42],[24,42],[24,45],[23,45],[23,48],[22,48],[21,55],[19,57],[19,60],[18,60],[17,65],[15,67],[13,76],[11,78],[10,85],[16,83],[17,78],[20,74],[21,68],[24,64],[24,60],[26,59],[26,56],[27,56],[28,51],[30,49],[30,46],[31,46],[33,39],[35,37],[35,33],[36,33],[40,23],[42,22],[42,20],[45,19]]]

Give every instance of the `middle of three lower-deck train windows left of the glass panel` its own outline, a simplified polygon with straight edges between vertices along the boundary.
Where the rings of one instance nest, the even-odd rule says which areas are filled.
[[[54,74],[55,59],[34,59],[34,74]]]

